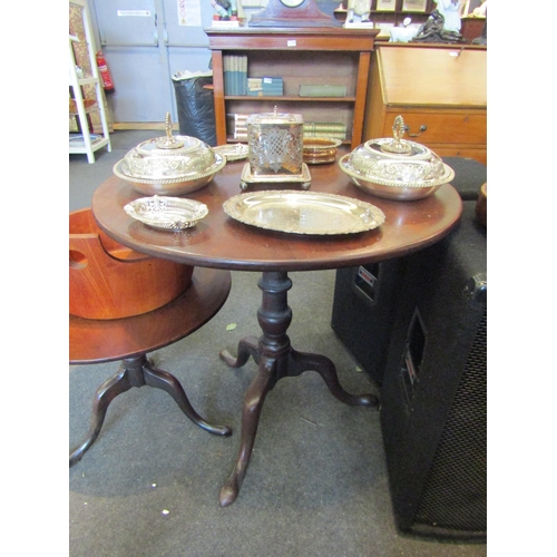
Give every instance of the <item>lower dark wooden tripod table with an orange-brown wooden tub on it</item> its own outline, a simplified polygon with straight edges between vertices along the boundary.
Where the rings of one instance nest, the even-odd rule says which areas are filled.
[[[209,321],[231,291],[231,273],[195,268],[189,286],[168,304],[139,315],[115,320],[69,316],[70,364],[121,360],[118,372],[97,390],[86,440],[70,452],[69,466],[77,463],[97,439],[108,404],[133,387],[163,389],[199,428],[217,436],[232,433],[227,426],[213,426],[192,407],[178,380],[153,365],[147,353],[167,346]]]

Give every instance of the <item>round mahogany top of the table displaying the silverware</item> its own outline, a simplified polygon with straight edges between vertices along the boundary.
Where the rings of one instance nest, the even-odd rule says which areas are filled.
[[[203,221],[186,231],[158,231],[129,217],[123,207],[144,195],[116,176],[95,192],[92,213],[99,226],[117,242],[179,263],[237,271],[316,271],[372,263],[426,247],[447,235],[462,211],[459,194],[448,184],[424,199],[397,202],[362,192],[338,164],[313,165],[311,192],[371,203],[385,214],[384,224],[374,231],[334,236],[267,231],[224,213],[223,203],[242,193],[240,176],[244,164],[245,160],[228,163],[207,186],[184,196],[205,203],[209,209]],[[263,189],[300,186],[250,185],[247,192]]]

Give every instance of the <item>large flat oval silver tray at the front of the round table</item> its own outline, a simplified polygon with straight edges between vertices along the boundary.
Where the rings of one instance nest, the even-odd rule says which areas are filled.
[[[384,223],[374,205],[320,192],[272,190],[240,194],[223,204],[241,223],[291,234],[354,234]]]

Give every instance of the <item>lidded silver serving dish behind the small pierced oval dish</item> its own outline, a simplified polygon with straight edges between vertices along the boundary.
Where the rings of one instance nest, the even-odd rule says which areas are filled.
[[[183,195],[201,189],[226,165],[206,143],[173,136],[166,115],[166,137],[140,143],[118,160],[114,174],[146,195]]]

